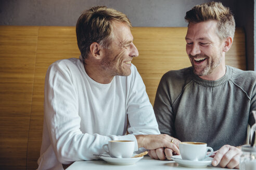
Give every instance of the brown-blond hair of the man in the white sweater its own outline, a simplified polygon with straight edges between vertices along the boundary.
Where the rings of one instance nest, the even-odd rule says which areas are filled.
[[[86,10],[76,23],[76,39],[82,58],[86,59],[92,43],[109,48],[113,39],[114,22],[123,22],[132,27],[124,13],[105,6],[96,6]]]

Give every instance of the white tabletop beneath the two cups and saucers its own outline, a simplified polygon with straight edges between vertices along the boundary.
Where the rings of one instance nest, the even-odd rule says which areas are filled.
[[[157,170],[157,169],[200,169],[200,170],[205,170],[205,169],[227,169],[227,168],[221,168],[221,167],[214,167],[214,166],[207,166],[204,168],[189,168],[189,167],[183,167],[183,166],[178,166],[177,163],[174,161],[160,161],[160,160],[154,160],[151,159],[148,156],[144,156],[143,159],[139,160],[133,165],[111,165],[108,164],[107,162],[103,160],[95,160],[95,161],[76,161],[72,165],[70,165],[66,170],[85,170],[85,169],[104,169],[104,170],[114,170],[114,169],[122,169],[122,170]]]

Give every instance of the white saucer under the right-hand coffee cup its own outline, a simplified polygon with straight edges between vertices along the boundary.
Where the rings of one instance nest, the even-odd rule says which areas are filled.
[[[190,161],[190,160],[183,160],[181,155],[174,155],[172,157],[172,160],[177,162],[180,166],[186,166],[186,167],[207,167],[212,163],[213,158],[206,158],[201,161]]]

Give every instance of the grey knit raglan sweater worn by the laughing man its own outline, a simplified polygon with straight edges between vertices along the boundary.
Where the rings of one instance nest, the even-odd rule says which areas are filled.
[[[203,80],[192,67],[165,73],[154,110],[161,133],[181,141],[201,141],[214,150],[244,145],[254,124],[256,72],[226,66],[219,80]]]

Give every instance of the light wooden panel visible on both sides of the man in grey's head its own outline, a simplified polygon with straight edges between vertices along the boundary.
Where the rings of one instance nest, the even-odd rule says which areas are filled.
[[[153,105],[162,75],[169,70],[191,66],[186,53],[187,27],[133,27],[139,56],[132,63],[143,78]],[[236,29],[234,42],[226,54],[226,64],[246,70],[245,33]]]

